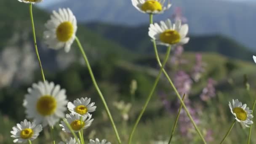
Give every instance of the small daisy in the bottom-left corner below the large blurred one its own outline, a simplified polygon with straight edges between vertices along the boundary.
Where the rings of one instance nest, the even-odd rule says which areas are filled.
[[[24,120],[20,124],[17,123],[17,126],[13,127],[11,137],[14,138],[14,143],[24,143],[28,140],[33,141],[37,136],[39,136],[39,133],[42,130],[42,125],[36,125],[35,123],[30,123],[29,121]]]

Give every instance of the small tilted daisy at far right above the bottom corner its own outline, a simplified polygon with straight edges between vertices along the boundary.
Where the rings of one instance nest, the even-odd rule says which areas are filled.
[[[249,109],[249,107],[246,107],[246,104],[243,104],[236,100],[232,100],[232,104],[229,102],[229,108],[232,114],[235,116],[235,119],[239,122],[245,125],[246,127],[250,127],[251,124],[253,124],[253,121],[251,120],[253,118],[252,110]]]

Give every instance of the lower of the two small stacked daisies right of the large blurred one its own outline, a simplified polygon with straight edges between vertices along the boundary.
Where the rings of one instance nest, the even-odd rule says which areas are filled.
[[[81,121],[82,118],[82,121]],[[91,115],[78,115],[78,114],[67,114],[66,115],[66,120],[69,123],[69,125],[71,126],[72,130],[75,132],[79,132],[81,129],[86,129],[88,128],[91,123],[93,122],[93,119],[91,119]],[[66,123],[64,123],[64,121],[61,121],[60,126],[62,127],[62,131],[68,132],[70,133],[71,131],[69,131],[68,126],[66,125]]]

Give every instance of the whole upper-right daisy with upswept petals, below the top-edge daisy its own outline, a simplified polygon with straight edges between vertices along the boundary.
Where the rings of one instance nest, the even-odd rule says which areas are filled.
[[[188,25],[181,25],[180,20],[176,20],[175,24],[172,24],[171,20],[167,19],[165,22],[160,21],[160,25],[150,24],[149,37],[159,45],[183,45],[189,41],[189,37],[186,37],[188,30]]]

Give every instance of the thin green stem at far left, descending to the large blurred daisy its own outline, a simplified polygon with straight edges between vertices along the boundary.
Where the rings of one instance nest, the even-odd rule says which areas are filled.
[[[33,37],[34,37],[35,53],[37,54],[37,59],[38,59],[38,63],[39,63],[40,69],[41,69],[41,75],[43,77],[43,81],[45,81],[45,75],[43,74],[43,67],[42,67],[38,49],[37,49],[37,40],[35,37],[35,25],[34,25],[34,20],[33,20],[33,13],[32,13],[32,3],[29,4],[29,12],[30,12],[31,25],[32,25],[32,32],[33,32]]]

